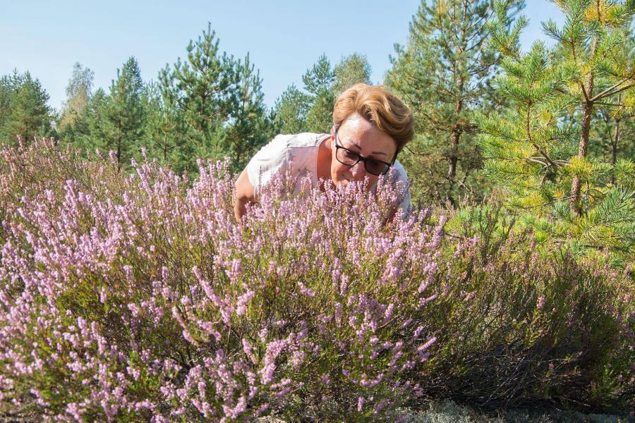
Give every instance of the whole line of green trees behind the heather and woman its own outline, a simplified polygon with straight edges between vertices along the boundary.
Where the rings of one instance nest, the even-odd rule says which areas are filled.
[[[564,25],[523,51],[522,0],[422,1],[382,81],[411,107],[416,138],[401,153],[419,204],[464,211],[504,205],[538,240],[620,261],[635,245],[635,1],[557,0]],[[334,99],[370,83],[353,52],[320,56],[270,109],[250,56],[222,51],[208,25],[144,82],[131,56],[109,90],[75,63],[61,111],[30,73],[0,80],[0,139],[55,136],[112,150],[126,168],[142,149],[177,173],[196,159],[231,158],[240,171],[277,133],[328,132]],[[478,209],[478,208],[477,208]],[[475,217],[476,216],[476,217]]]

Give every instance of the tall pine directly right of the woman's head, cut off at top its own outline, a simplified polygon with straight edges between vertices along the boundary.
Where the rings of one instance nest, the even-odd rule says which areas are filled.
[[[505,1],[505,22],[523,6],[521,0]],[[459,197],[479,197],[485,189],[476,175],[481,160],[470,116],[495,106],[487,101],[498,61],[487,43],[491,17],[490,0],[422,1],[408,43],[395,46],[385,83],[415,118],[418,135],[400,160],[418,200],[456,205]]]

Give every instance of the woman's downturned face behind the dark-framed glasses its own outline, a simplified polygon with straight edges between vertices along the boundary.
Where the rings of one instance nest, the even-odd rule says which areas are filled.
[[[339,125],[337,130],[337,144],[352,150],[361,157],[376,159],[391,163],[397,145],[390,135],[379,130],[360,114],[352,114]],[[363,161],[354,166],[340,163],[335,157],[335,135],[331,135],[331,179],[335,185],[351,182],[352,180],[364,180],[368,178],[368,188],[377,183],[379,176],[366,171]]]

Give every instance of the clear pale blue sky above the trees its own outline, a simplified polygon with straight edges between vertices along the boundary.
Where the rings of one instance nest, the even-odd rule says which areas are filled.
[[[220,49],[250,58],[260,69],[265,102],[275,99],[326,54],[365,54],[373,82],[389,68],[394,43],[403,44],[420,0],[71,1],[0,0],[0,75],[30,71],[60,109],[76,61],[95,71],[95,87],[110,86],[116,69],[135,56],[144,81],[186,56],[190,39],[212,23]],[[530,19],[521,42],[545,39],[540,21],[562,16],[546,0],[527,0]]]

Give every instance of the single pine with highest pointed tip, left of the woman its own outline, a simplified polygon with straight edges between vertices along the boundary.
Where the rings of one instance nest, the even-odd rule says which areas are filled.
[[[188,125],[187,142],[196,157],[222,157],[223,125],[231,113],[231,92],[236,85],[234,59],[219,50],[216,32],[207,31],[190,41],[186,61],[179,58],[174,70],[159,74],[162,87],[171,90]]]

